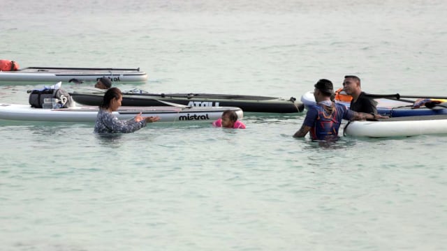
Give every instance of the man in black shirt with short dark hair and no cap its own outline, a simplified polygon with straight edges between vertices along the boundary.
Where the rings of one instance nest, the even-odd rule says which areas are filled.
[[[377,114],[377,102],[365,96],[365,92],[360,88],[360,78],[354,75],[344,76],[343,90],[353,98],[349,109],[354,112]]]

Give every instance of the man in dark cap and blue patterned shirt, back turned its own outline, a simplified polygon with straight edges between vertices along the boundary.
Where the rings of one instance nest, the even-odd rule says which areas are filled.
[[[320,79],[314,85],[314,97],[316,105],[309,107],[306,118],[300,130],[293,137],[305,137],[310,131],[312,140],[334,140],[338,139],[338,130],[342,119],[364,120],[387,118],[379,114],[367,114],[354,112],[345,105],[330,100],[334,94],[332,82],[328,79]]]

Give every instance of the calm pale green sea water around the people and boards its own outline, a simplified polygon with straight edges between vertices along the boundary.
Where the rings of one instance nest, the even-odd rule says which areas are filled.
[[[15,1],[0,58],[140,67],[154,92],[289,98],[320,78],[446,95],[445,1]],[[1,102],[27,89],[0,86]],[[67,89],[78,86],[66,86]],[[447,137],[293,139],[247,130],[0,122],[0,250],[445,250]]]

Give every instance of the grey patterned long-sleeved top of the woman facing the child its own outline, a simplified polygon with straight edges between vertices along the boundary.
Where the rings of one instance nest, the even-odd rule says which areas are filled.
[[[129,133],[135,132],[146,126],[146,121],[136,122],[134,118],[129,120],[119,120],[115,115],[105,109],[99,109],[96,116],[95,130],[97,133]]]

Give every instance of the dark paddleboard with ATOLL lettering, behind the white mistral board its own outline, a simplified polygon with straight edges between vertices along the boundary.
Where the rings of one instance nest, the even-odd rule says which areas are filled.
[[[74,91],[70,93],[81,105],[101,105],[104,91]],[[304,105],[296,98],[274,98],[208,93],[147,93],[135,90],[123,92],[123,106],[166,106],[167,102],[191,107],[240,107],[244,112],[302,112]]]

